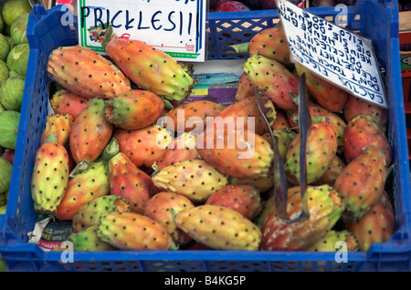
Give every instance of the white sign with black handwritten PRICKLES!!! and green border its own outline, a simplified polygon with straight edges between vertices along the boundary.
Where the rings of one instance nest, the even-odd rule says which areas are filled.
[[[117,36],[141,40],[176,60],[205,61],[206,0],[79,0],[79,45],[105,55],[109,24]]]

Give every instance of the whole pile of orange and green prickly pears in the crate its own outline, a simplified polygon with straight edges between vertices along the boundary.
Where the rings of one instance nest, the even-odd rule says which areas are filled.
[[[392,165],[387,110],[291,63],[281,29],[263,29],[241,47],[244,73],[228,106],[182,102],[193,72],[142,41],[109,27],[102,47],[108,57],[79,46],[48,57],[47,73],[61,87],[50,96],[53,112],[31,179],[36,211],[72,221],[75,251],[332,252],[337,242],[367,251],[394,234],[393,193],[385,189]],[[269,131],[278,140],[293,216],[302,204],[294,97],[303,72],[312,117],[310,218],[284,223],[274,206]],[[258,88],[265,89],[269,126]],[[160,121],[183,113],[184,123]],[[237,126],[224,126],[238,117]]]

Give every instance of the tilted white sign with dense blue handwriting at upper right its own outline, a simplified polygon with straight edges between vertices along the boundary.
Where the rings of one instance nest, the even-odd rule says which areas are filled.
[[[387,107],[385,85],[371,39],[336,26],[289,1],[277,2],[295,61],[355,97]]]

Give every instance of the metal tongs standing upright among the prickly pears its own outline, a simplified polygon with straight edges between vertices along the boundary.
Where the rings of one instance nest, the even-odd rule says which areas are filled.
[[[264,106],[268,97],[264,97],[265,89],[256,89],[256,99],[258,109],[263,115],[263,119],[269,129],[269,135],[274,144],[274,160],[273,160],[273,174],[274,174],[274,203],[275,210],[279,219],[283,223],[295,223],[298,221],[305,221],[310,218],[310,212],[307,206],[307,161],[306,161],[306,147],[307,147],[307,132],[311,126],[311,115],[308,109],[308,94],[306,87],[305,74],[300,77],[299,84],[299,124],[300,124],[300,194],[301,194],[301,211],[297,216],[290,218],[287,212],[288,200],[288,186],[287,177],[284,171],[284,164],[279,154],[279,146],[277,137],[274,136],[269,121],[273,120],[270,116],[269,106]],[[265,100],[266,99],[266,100]]]

